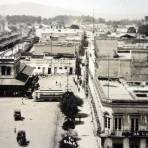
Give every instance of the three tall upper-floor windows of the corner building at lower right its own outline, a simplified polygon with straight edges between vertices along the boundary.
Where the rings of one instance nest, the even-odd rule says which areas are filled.
[[[104,126],[107,129],[110,129],[110,117],[104,117]],[[114,118],[114,129],[121,130],[122,129],[122,118],[116,117]],[[138,131],[139,129],[139,119],[138,118],[131,118],[131,130]]]

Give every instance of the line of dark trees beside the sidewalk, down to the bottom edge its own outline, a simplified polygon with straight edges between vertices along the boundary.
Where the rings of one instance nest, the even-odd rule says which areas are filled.
[[[75,96],[73,92],[65,92],[60,101],[61,112],[66,116],[63,123],[63,129],[68,131],[75,128],[75,117],[79,113],[79,106],[82,106],[83,100]],[[60,141],[59,148],[77,148],[77,135],[66,134]]]

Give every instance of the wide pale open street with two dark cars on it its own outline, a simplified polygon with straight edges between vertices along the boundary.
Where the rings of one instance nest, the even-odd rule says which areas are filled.
[[[15,109],[21,110],[24,121],[14,121]],[[20,98],[1,98],[0,116],[0,148],[19,148],[16,141],[19,130],[26,131],[30,141],[28,148],[55,147],[57,120],[60,118],[58,103],[24,100],[22,104]]]

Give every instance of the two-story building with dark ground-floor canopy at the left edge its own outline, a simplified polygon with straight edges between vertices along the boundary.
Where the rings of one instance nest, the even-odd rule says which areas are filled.
[[[20,63],[20,56],[0,57],[0,96],[24,96],[33,68]]]

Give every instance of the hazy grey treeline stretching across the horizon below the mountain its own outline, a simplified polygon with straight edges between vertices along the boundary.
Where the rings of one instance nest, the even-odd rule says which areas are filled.
[[[52,24],[53,22],[57,24],[73,24],[73,23],[81,23],[81,24],[90,24],[90,23],[105,23],[108,25],[118,26],[118,25],[130,25],[137,24],[141,25],[142,20],[105,20],[104,18],[94,18],[92,16],[72,16],[72,15],[58,15],[50,18],[41,18],[40,16],[29,16],[29,15],[8,15],[7,20],[11,24],[16,23],[40,23],[41,21],[44,24]]]

